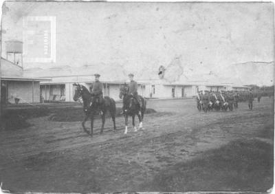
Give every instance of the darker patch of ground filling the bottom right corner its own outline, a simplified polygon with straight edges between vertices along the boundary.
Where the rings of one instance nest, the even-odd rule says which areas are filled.
[[[273,185],[273,144],[236,140],[155,175],[145,191],[267,191]]]

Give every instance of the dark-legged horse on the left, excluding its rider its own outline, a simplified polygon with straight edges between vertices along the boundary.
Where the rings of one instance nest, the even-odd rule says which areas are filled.
[[[79,84],[74,84],[76,86],[76,90],[74,92],[74,101],[80,100],[82,98],[83,100],[83,109],[85,112],[85,118],[82,122],[82,126],[84,131],[88,133],[89,135],[93,136],[93,128],[94,128],[94,116],[98,113],[98,111],[102,111],[102,125],[101,125],[101,130],[100,134],[103,133],[103,128],[104,128],[104,123],[105,123],[105,115],[107,114],[107,111],[109,111],[111,118],[113,120],[113,131],[115,131],[115,100],[113,98],[109,98],[108,96],[104,96],[103,98],[103,105],[99,110],[99,105],[98,105],[98,99],[96,96],[91,94],[89,90]],[[87,121],[88,118],[91,118],[91,133],[87,131],[85,128],[85,122]]]

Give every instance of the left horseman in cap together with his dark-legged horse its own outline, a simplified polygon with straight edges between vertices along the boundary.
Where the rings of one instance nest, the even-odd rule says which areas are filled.
[[[91,136],[93,136],[93,128],[94,128],[94,116],[98,114],[98,111],[100,112],[101,118],[102,118],[102,126],[100,133],[103,133],[104,129],[104,123],[105,123],[105,116],[107,112],[109,111],[111,118],[113,120],[113,131],[115,131],[115,112],[116,112],[116,107],[115,107],[115,100],[113,98],[109,98],[109,96],[104,96],[102,95],[102,87],[100,86],[99,83],[99,75],[95,74],[96,82],[93,85],[92,92],[90,93],[89,90],[79,84],[74,84],[76,86],[76,90],[74,93],[74,101],[80,100],[82,98],[83,100],[83,110],[85,112],[85,118],[82,122],[83,129]],[[98,81],[97,81],[98,80]],[[85,122],[87,121],[88,118],[91,118],[91,133],[87,131],[85,128]]]

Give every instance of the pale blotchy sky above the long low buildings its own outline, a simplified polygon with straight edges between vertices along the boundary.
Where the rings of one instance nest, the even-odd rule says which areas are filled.
[[[23,41],[23,17],[33,16],[55,17],[56,61],[27,62],[25,68],[103,63],[149,76],[175,58],[181,58],[187,74],[224,73],[223,67],[236,63],[274,61],[272,3],[8,1],[2,56],[4,41]]]

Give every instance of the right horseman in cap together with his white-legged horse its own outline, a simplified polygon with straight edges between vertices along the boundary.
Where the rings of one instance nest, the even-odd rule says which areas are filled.
[[[133,80],[133,74],[129,74],[129,79],[129,85],[125,83],[120,87],[120,99],[123,100],[122,112],[125,118],[124,134],[128,131],[128,116],[132,116],[134,131],[137,131],[135,127],[135,115],[137,115],[140,121],[139,129],[142,129],[142,120],[146,110],[146,100],[137,94],[137,83]]]

